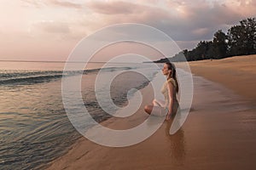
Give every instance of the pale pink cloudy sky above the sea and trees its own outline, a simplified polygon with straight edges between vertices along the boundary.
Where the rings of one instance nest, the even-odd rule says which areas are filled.
[[[153,26],[180,49],[192,49],[255,17],[256,1],[1,0],[0,11],[0,60],[65,61],[84,37],[123,23]]]

